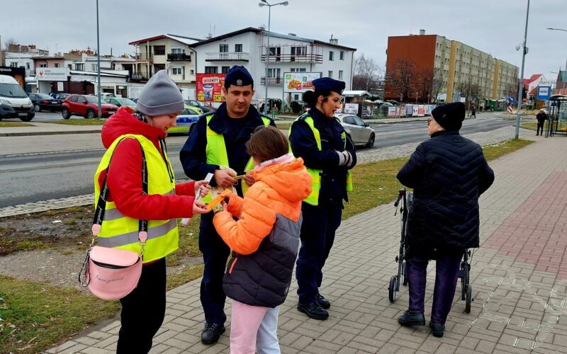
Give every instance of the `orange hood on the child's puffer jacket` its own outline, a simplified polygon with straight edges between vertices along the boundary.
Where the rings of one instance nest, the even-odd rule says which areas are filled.
[[[252,176],[256,181],[262,181],[274,188],[290,202],[304,200],[311,193],[311,175],[303,166],[301,157],[293,162],[274,164],[252,171]]]

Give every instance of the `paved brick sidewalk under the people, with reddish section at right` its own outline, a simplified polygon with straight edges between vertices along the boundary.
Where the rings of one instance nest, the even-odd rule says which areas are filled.
[[[388,301],[400,219],[392,204],[342,222],[325,265],[322,293],[330,319],[296,310],[296,283],[281,306],[282,353],[565,353],[567,352],[567,156],[563,137],[537,142],[490,163],[496,180],[481,198],[481,248],[473,254],[474,302],[464,313],[460,285],[443,338],[426,326],[401,327],[408,289]],[[426,316],[434,268],[430,268]],[[200,279],[167,293],[167,314],[151,353],[228,353],[230,326],[203,346]],[[459,283],[460,284],[460,283]],[[230,301],[227,304],[230,316]],[[230,323],[230,320],[229,322]],[[48,353],[113,353],[119,321],[62,343]]]

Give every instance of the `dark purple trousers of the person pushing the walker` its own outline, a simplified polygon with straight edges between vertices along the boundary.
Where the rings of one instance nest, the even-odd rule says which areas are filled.
[[[445,324],[451,310],[463,253],[464,251],[444,251],[435,255],[435,287],[431,321],[436,324]],[[405,260],[410,288],[410,312],[424,312],[425,282],[429,261],[429,255],[421,254],[408,255]]]

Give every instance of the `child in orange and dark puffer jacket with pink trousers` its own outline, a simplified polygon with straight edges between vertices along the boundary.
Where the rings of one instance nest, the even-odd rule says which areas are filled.
[[[230,193],[213,218],[232,250],[223,282],[232,299],[230,353],[280,353],[279,305],[291,284],[301,201],[311,193],[311,176],[276,127],[257,127],[246,147],[256,183],[244,198]]]

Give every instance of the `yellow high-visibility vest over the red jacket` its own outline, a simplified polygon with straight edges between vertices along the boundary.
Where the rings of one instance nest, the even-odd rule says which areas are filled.
[[[121,135],[116,139],[111,147],[106,150],[99,168],[94,174],[94,202],[99,202],[101,188],[99,186],[99,175],[108,167],[112,153],[118,142],[123,138],[137,139],[142,145],[145,152],[147,164],[147,193],[152,194],[174,194],[175,180],[170,181],[169,176],[173,176],[173,171],[165,164],[162,154],[155,145],[142,135]],[[165,159],[167,154],[164,153]],[[167,159],[167,164],[172,166]],[[120,168],[116,164],[113,168]],[[140,173],[142,173],[142,165],[140,165]],[[111,191],[112,193],[112,191]],[[140,253],[140,243],[138,241],[138,219],[126,217],[120,210],[116,208],[115,202],[106,202],[101,232],[97,243],[103,247],[113,247],[116,249],[127,249]],[[147,223],[147,241],[144,249],[144,263],[164,258],[169,253],[175,251],[178,247],[179,230],[177,229],[177,219],[169,220],[148,220]]]

